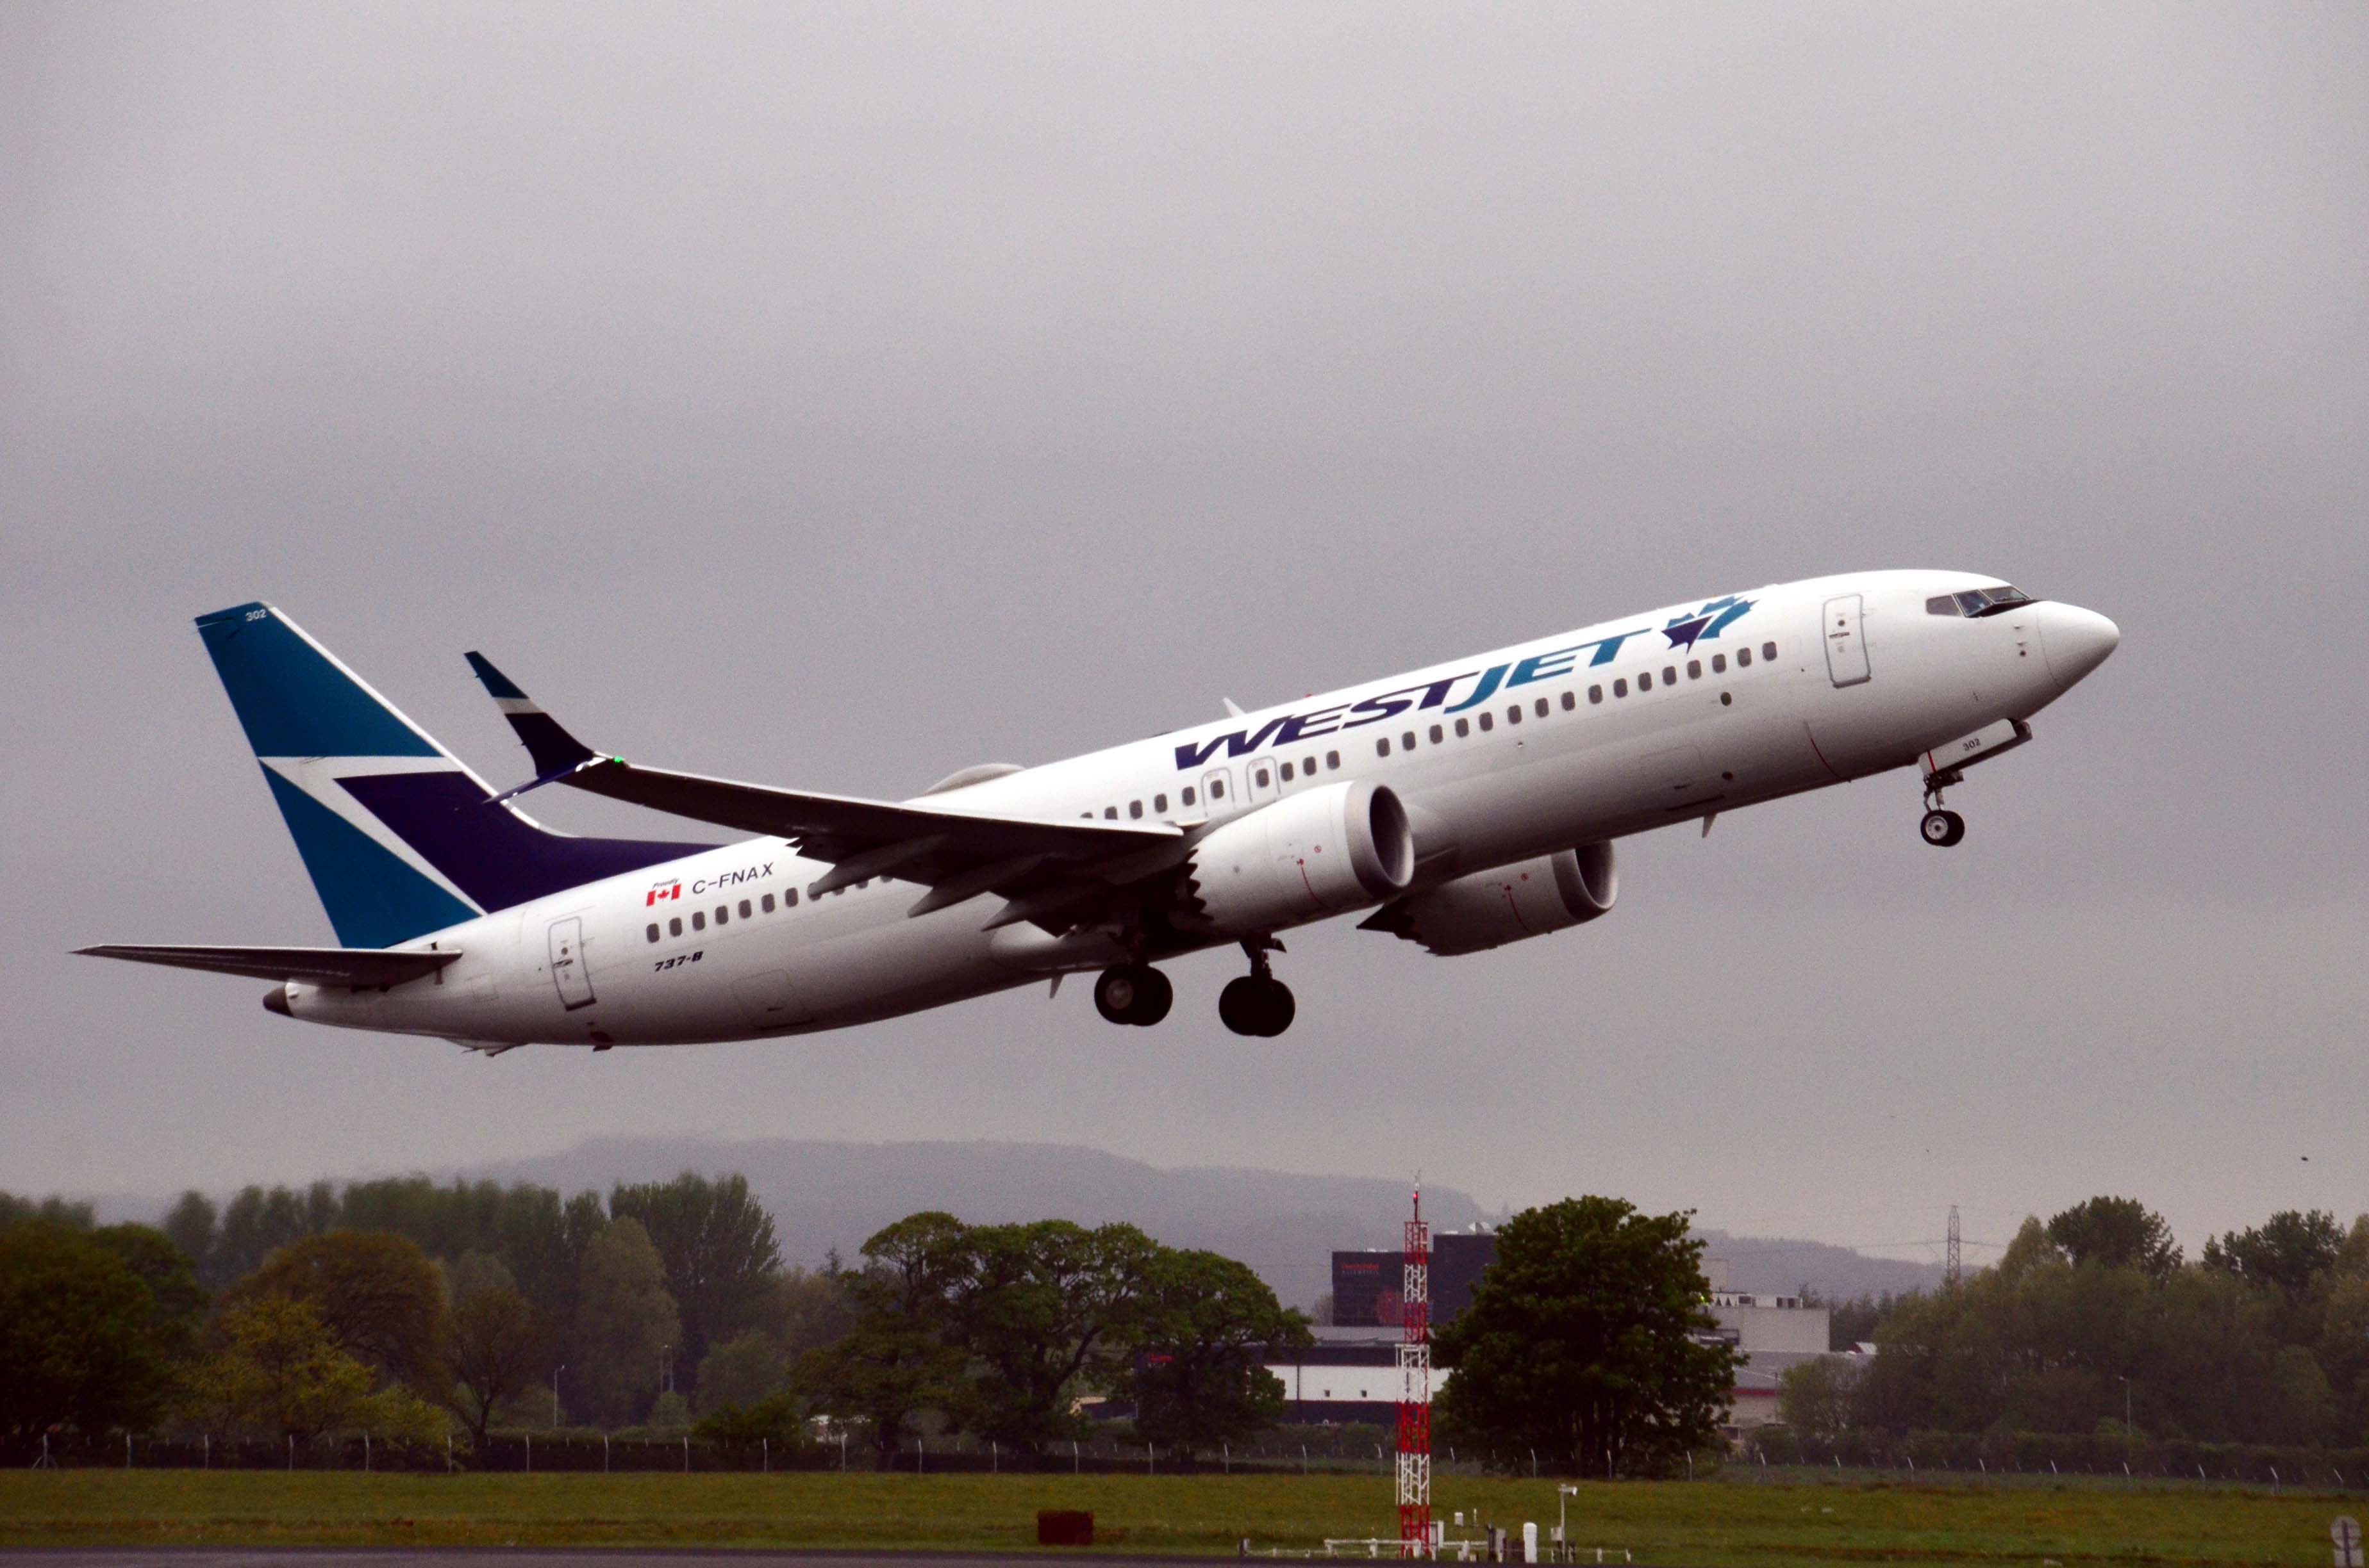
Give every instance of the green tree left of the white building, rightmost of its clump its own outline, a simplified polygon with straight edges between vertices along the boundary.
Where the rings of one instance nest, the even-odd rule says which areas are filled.
[[[1308,1319],[1275,1300],[1248,1265],[1161,1248],[1144,1284],[1135,1357],[1111,1390],[1135,1405],[1135,1431],[1168,1452],[1239,1442],[1284,1416],[1267,1350],[1312,1341]]]

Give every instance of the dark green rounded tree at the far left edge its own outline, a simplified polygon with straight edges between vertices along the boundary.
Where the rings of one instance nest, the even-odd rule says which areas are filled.
[[[142,1428],[168,1388],[156,1303],[121,1255],[40,1220],[0,1232],[0,1433]]]

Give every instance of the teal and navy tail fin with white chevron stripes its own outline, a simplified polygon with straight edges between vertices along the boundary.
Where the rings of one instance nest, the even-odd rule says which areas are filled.
[[[336,940],[391,947],[699,853],[571,838],[507,803],[270,604],[197,618]]]

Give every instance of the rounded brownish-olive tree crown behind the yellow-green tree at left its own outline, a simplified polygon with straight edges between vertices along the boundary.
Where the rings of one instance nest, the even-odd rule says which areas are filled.
[[[272,1253],[230,1296],[313,1303],[336,1345],[365,1367],[398,1383],[443,1393],[443,1279],[407,1236],[306,1236]]]

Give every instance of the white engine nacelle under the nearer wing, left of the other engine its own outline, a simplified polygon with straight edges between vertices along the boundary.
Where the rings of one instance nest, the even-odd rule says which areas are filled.
[[[1395,898],[1414,831],[1386,784],[1327,784],[1211,829],[1184,865],[1203,928],[1258,936]]]

